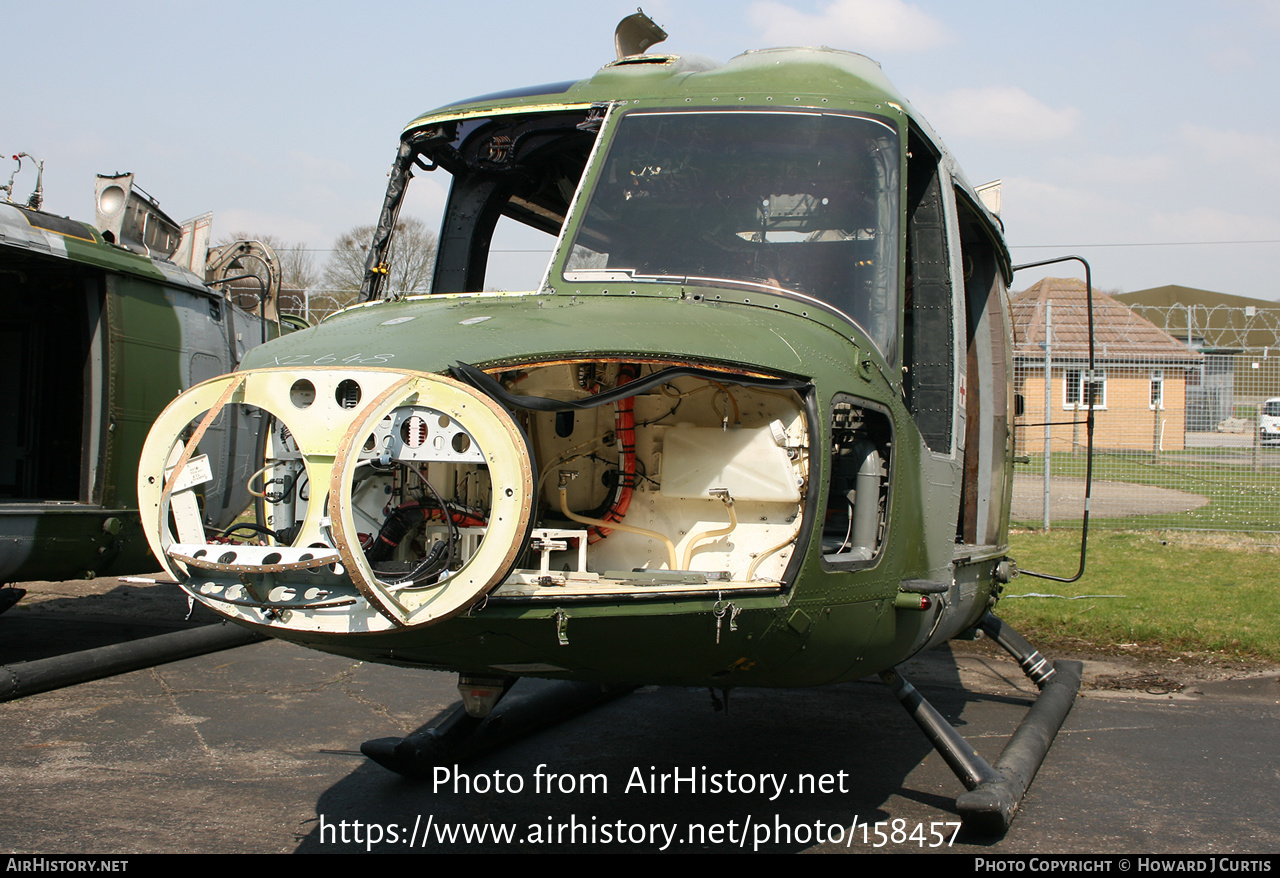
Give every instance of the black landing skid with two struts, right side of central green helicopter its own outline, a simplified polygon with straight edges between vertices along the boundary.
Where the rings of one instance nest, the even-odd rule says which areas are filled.
[[[995,765],[978,755],[896,668],[882,672],[881,680],[893,690],[893,695],[968,790],[956,799],[956,809],[965,827],[984,834],[1002,834],[1012,823],[1023,795],[1075,703],[1083,667],[1079,662],[1048,662],[1016,631],[991,613],[987,613],[978,627],[1004,646],[1018,660],[1023,673],[1041,690]]]

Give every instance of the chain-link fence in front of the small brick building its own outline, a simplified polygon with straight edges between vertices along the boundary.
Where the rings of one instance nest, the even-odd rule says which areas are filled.
[[[1280,539],[1280,351],[1044,366],[1015,369],[1015,525],[1080,525],[1092,404],[1091,526]]]

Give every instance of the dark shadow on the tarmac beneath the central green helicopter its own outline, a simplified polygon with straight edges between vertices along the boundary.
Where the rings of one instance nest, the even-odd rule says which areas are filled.
[[[936,650],[925,673],[905,672],[964,733],[974,696],[948,650]],[[1001,737],[970,742],[988,759],[1004,746]],[[320,796],[297,851],[874,850],[877,823],[887,836],[920,820],[925,836],[931,823],[940,833],[924,846],[941,846],[955,832],[963,786],[941,759],[940,783],[906,786],[932,753],[879,682],[735,690],[727,712],[713,712],[705,690],[644,687],[430,779],[365,763]],[[891,797],[920,817],[895,827],[883,809]]]

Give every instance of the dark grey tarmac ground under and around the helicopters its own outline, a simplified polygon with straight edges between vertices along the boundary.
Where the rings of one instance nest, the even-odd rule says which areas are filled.
[[[0,616],[0,643],[49,616]],[[77,626],[67,612],[63,636]],[[902,671],[989,760],[1034,698],[1010,659],[973,645]],[[1112,671],[1087,664],[1085,677]],[[646,687],[439,783],[412,782],[360,744],[428,724],[457,701],[451,676],[269,641],[0,705],[0,846],[1280,851],[1275,674],[1148,689],[1085,691],[1009,833],[952,838],[963,787],[879,682],[736,690],[727,712],[705,690]]]

